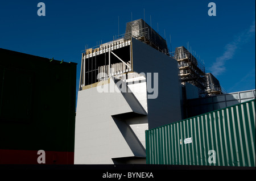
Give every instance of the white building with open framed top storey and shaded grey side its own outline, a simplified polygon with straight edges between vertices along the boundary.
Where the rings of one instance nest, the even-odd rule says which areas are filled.
[[[177,61],[151,39],[126,36],[82,54],[75,164],[146,163],[145,130],[182,119]]]

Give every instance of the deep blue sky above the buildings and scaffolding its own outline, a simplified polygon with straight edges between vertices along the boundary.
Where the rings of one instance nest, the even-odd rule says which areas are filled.
[[[39,2],[46,16],[38,16]],[[208,16],[208,3],[216,16]],[[0,48],[77,63],[81,51],[125,33],[126,22],[144,19],[172,50],[187,43],[227,92],[255,89],[255,1],[1,1]],[[158,26],[157,26],[158,24]],[[1,61],[1,60],[0,60]],[[78,90],[78,86],[77,86]]]

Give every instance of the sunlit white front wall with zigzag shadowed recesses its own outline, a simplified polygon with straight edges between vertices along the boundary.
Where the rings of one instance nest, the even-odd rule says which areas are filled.
[[[146,94],[143,84],[137,83],[137,87],[144,87]],[[113,78],[102,88],[110,86],[118,89]],[[99,92],[98,88],[78,93],[75,164],[133,163],[135,157],[143,158],[139,163],[146,163],[144,132],[148,127],[143,110],[146,105],[140,106],[133,92],[110,92],[110,89]]]

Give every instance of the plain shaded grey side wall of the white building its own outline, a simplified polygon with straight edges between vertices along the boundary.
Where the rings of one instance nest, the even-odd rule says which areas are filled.
[[[132,49],[134,71],[152,73],[152,78],[158,73],[158,97],[147,100],[149,129],[181,120],[177,61],[136,39],[132,39]],[[153,87],[154,83],[151,85]]]

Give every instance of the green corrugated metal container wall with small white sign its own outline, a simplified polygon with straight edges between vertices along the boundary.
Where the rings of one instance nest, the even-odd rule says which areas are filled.
[[[146,131],[146,153],[148,164],[255,167],[255,99]]]

